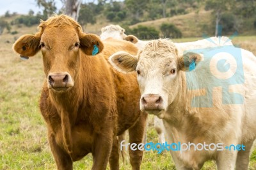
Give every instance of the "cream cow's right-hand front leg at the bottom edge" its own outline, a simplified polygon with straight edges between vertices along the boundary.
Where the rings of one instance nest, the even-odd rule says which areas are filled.
[[[218,170],[233,170],[236,165],[237,151],[223,150],[219,151],[216,164]]]

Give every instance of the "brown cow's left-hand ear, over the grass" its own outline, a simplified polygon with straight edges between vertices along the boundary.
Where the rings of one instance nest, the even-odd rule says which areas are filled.
[[[35,56],[40,50],[40,33],[36,35],[23,35],[13,44],[13,50],[20,54],[20,57]]]

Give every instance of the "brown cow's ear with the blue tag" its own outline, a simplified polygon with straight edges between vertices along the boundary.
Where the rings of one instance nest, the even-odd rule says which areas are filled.
[[[81,50],[87,55],[94,56],[104,48],[99,36],[93,34],[82,34],[79,38]]]

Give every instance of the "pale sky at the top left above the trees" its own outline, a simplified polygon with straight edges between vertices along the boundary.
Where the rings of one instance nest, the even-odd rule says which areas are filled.
[[[60,10],[61,1],[55,1],[57,9]],[[0,15],[4,15],[8,10],[10,13],[17,12],[19,14],[28,14],[29,10],[33,10],[35,13],[42,12],[42,9],[36,5],[36,0],[0,0]]]

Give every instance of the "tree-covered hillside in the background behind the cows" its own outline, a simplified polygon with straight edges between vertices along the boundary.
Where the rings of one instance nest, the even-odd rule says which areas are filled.
[[[0,33],[4,29],[8,29],[10,32],[11,25],[15,24],[37,25],[40,19],[45,20],[52,13],[64,11],[64,9],[57,10],[54,0],[35,1],[42,8],[42,12],[35,14],[33,10],[30,10],[28,15],[19,15],[13,20],[8,20],[17,13],[11,14],[7,11],[0,19]],[[217,30],[218,26],[222,27],[221,35],[232,35],[234,31],[240,35],[256,33],[256,3],[253,0],[99,0],[85,1],[80,7],[78,21],[84,28],[93,24],[96,26],[119,24],[127,28],[127,34],[134,34],[143,39],[198,36],[199,32],[204,32],[209,36],[220,35]],[[202,13],[207,12],[209,15],[204,17],[209,18],[208,20],[200,18]],[[190,24],[186,20],[181,23],[171,21],[177,17],[183,19],[189,15],[195,16],[192,18],[195,20],[194,23]],[[4,22],[6,20],[8,22]],[[151,24],[147,29],[147,22],[150,21],[161,23]],[[194,33],[184,30],[186,24],[190,24]],[[138,27],[139,25],[140,27]],[[193,26],[196,28],[193,29]]]

